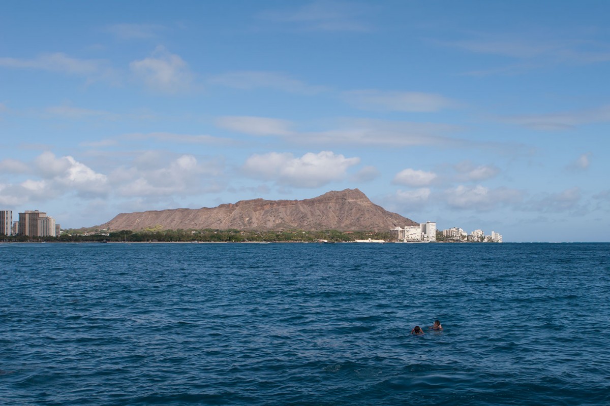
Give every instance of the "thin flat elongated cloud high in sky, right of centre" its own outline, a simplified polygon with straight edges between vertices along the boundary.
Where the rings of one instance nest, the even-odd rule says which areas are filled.
[[[354,90],[343,93],[346,102],[363,110],[427,113],[456,105],[440,94],[379,90]]]

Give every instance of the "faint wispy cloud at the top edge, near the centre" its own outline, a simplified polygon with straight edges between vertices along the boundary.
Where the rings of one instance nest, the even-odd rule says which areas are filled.
[[[314,1],[296,9],[267,10],[258,17],[290,30],[365,32],[371,30],[364,21],[370,10],[355,2]]]

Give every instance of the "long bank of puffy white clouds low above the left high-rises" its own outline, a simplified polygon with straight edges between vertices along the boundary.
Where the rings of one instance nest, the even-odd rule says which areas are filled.
[[[193,155],[171,156],[168,152],[145,152],[126,166],[113,166],[108,175],[96,172],[72,156],[41,153],[32,163],[2,161],[4,166],[24,170],[27,178],[0,183],[0,203],[5,206],[45,203],[54,198],[89,201],[124,201],[146,198],[148,203],[178,195],[218,192],[226,187],[220,159],[198,160]],[[23,172],[21,172],[23,173]],[[150,206],[149,206],[150,207]]]

